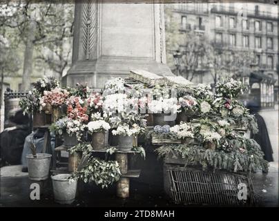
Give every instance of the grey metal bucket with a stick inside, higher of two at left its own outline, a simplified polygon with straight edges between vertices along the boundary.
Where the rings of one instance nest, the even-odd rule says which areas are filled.
[[[47,180],[50,171],[51,154],[37,153],[37,157],[32,154],[26,155],[28,175],[30,180]]]

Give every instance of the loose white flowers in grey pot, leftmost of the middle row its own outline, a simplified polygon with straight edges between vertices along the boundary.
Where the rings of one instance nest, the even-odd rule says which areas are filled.
[[[86,124],[83,124],[77,119],[64,117],[50,126],[50,131],[55,132],[57,135],[63,135],[64,145],[66,147],[77,145],[78,141],[84,134]]]

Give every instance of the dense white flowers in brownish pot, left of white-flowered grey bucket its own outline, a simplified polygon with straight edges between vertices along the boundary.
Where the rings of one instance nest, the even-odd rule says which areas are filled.
[[[110,124],[104,119],[95,119],[87,125],[88,132],[92,134],[91,145],[95,150],[102,150],[105,146],[105,131],[110,129]]]

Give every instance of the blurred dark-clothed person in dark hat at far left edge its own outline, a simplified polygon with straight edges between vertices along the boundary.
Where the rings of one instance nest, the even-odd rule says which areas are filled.
[[[11,113],[15,115],[10,114],[10,127],[0,133],[0,166],[21,164],[24,140],[30,133],[28,115],[23,115],[19,108]]]

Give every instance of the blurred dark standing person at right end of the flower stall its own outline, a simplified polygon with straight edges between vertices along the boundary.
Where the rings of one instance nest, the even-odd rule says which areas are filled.
[[[256,140],[256,142],[260,145],[262,152],[264,152],[264,160],[268,162],[273,162],[273,151],[271,142],[269,140],[269,133],[267,131],[267,126],[264,122],[264,119],[261,115],[259,115],[260,106],[255,102],[249,102],[247,104],[247,108],[249,109],[250,113],[256,117],[256,121],[258,123],[259,131],[256,134],[251,132],[251,138]]]

